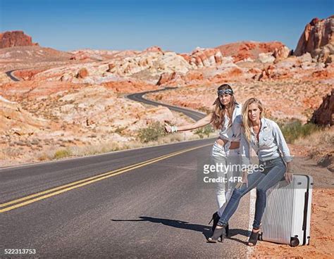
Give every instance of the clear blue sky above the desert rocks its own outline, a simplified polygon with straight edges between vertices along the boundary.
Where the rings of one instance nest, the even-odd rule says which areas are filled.
[[[312,18],[334,0],[0,0],[0,31],[23,30],[64,51],[161,46],[190,52],[239,41],[280,41],[295,49]]]

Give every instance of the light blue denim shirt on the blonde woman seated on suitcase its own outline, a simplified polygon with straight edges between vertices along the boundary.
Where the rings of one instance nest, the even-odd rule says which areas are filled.
[[[261,118],[261,129],[259,132],[259,142],[256,139],[256,134],[251,128],[250,144],[245,136],[241,134],[240,141],[240,156],[242,165],[249,165],[249,146],[256,152],[259,160],[266,161],[273,158],[283,157],[285,163],[292,161],[290,150],[283,137],[280,127],[273,120]]]

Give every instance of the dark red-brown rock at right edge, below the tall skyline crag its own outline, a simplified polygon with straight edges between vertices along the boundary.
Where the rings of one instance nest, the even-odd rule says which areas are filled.
[[[323,98],[323,103],[314,111],[311,122],[319,125],[334,125],[334,89]]]

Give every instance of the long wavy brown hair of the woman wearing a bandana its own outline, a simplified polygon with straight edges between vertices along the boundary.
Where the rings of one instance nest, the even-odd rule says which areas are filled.
[[[218,87],[218,90],[225,90],[225,89],[231,89],[230,85],[228,84],[222,84],[220,87]],[[223,103],[221,103],[221,100],[219,99],[219,96],[214,101],[213,105],[215,106],[214,112],[212,113],[210,123],[214,126],[214,129],[220,130],[221,127],[225,124],[225,114],[228,116],[230,121],[228,122],[228,127],[232,125],[232,115],[233,111],[235,109],[235,106],[237,105],[237,102],[235,101],[235,97],[231,96],[231,101],[228,103],[228,106],[224,106]]]

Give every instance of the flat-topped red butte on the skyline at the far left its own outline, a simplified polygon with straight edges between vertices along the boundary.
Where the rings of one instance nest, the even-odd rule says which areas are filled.
[[[22,31],[0,33],[0,49],[11,46],[39,46],[32,43],[32,38]]]

